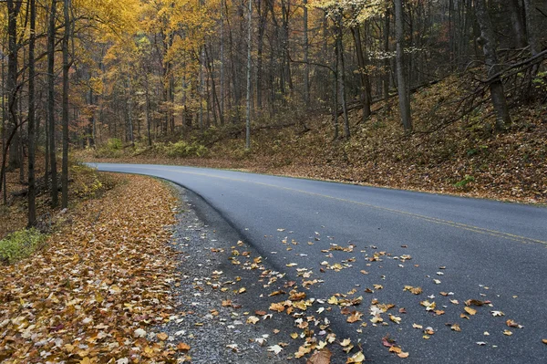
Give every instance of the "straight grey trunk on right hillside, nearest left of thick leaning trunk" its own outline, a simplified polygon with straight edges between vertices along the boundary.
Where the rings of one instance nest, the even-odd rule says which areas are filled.
[[[408,77],[404,57],[403,0],[395,0],[395,33],[397,40],[397,90],[401,121],[405,131],[412,130]]]

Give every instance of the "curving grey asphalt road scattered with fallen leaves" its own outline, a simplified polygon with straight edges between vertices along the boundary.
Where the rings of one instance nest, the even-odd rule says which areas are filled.
[[[327,299],[356,288],[350,297],[364,299],[352,310],[363,312],[363,321],[347,324],[338,307],[327,315],[338,338],[360,340],[366,359],[547,363],[546,208],[191,167],[97,167],[157,176],[199,194],[277,270],[295,279],[297,268],[313,270],[312,278],[324,282],[310,286],[308,296]],[[332,250],[333,244],[355,246],[344,252]],[[342,269],[326,269],[333,266]],[[423,293],[413,295],[405,286],[419,286]],[[396,306],[381,315],[388,325],[370,322],[373,299]],[[471,306],[477,310],[471,316],[464,311],[469,299],[491,306]],[[444,313],[426,311],[420,305],[425,300]],[[399,313],[401,307],[406,313]],[[389,313],[400,323],[390,321]],[[522,328],[508,327],[508,319]],[[435,333],[425,335],[413,324]],[[451,329],[453,324],[461,330]],[[408,359],[382,345],[387,334]]]

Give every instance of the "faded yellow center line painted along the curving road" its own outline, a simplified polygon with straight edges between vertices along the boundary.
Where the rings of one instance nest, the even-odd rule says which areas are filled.
[[[285,190],[285,191],[300,192],[300,193],[308,194],[308,195],[311,195],[311,196],[322,197],[322,198],[325,198],[325,199],[335,200],[335,201],[339,201],[339,202],[343,202],[343,203],[354,203],[354,204],[358,204],[358,205],[361,205],[361,206],[366,206],[366,207],[369,207],[369,208],[372,208],[372,209],[385,211],[385,212],[388,212],[388,213],[398,213],[398,214],[402,214],[402,215],[407,215],[407,216],[410,216],[410,217],[413,217],[413,218],[416,218],[416,219],[427,221],[429,223],[448,225],[448,226],[456,227],[456,228],[459,228],[459,229],[462,229],[462,230],[467,230],[467,231],[470,231],[470,232],[473,232],[473,233],[485,234],[485,235],[490,235],[490,236],[495,236],[495,237],[501,237],[503,239],[508,239],[508,240],[512,240],[512,241],[516,241],[516,242],[520,242],[520,243],[539,243],[539,244],[546,244],[547,245],[547,242],[545,242],[545,241],[538,240],[538,239],[532,239],[532,238],[526,237],[526,236],[503,233],[503,232],[500,232],[500,231],[497,231],[497,230],[485,229],[485,228],[470,225],[470,224],[457,223],[457,222],[453,222],[453,221],[450,221],[450,220],[439,219],[437,217],[429,217],[429,216],[425,216],[425,215],[420,215],[418,213],[408,213],[406,211],[390,209],[388,207],[377,206],[377,205],[371,204],[371,203],[360,203],[360,202],[357,202],[357,201],[347,200],[347,199],[340,198],[340,197],[329,196],[327,194],[316,193],[316,192],[308,192],[308,191],[298,190],[298,189],[294,189],[294,188],[290,188],[290,187],[278,186],[278,185],[270,184],[270,183],[253,182],[253,181],[249,181],[249,180],[243,180],[243,179],[240,179],[240,178],[222,177],[222,176],[217,176],[217,175],[212,175],[212,174],[207,174],[207,173],[185,172],[185,171],[177,171],[177,170],[165,169],[165,168],[150,168],[150,167],[132,167],[132,168],[142,168],[142,169],[147,169],[147,170],[166,171],[166,172],[178,172],[178,173],[182,173],[182,174],[192,174],[192,175],[203,176],[203,177],[212,177],[212,178],[218,178],[218,179],[233,181],[233,182],[253,183],[253,184],[258,184],[258,185],[267,186],[267,187],[273,187],[273,188],[277,188],[277,189]]]

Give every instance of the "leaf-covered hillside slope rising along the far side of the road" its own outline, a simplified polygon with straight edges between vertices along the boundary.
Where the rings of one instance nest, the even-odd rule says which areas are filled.
[[[366,121],[360,110],[351,111],[349,140],[333,140],[330,115],[308,113],[298,117],[299,122],[283,115],[257,122],[251,151],[244,150],[243,126],[230,125],[204,133],[182,130],[151,148],[138,143],[116,151],[78,151],[77,156],[85,161],[207,166],[547,203],[547,105],[514,103],[511,128],[494,132],[490,102],[475,102],[473,98],[482,96],[464,94],[465,82],[452,77],[418,89],[412,97],[410,135],[399,125],[397,99],[392,98],[388,105],[374,104]],[[467,104],[472,105],[470,111],[462,115]]]

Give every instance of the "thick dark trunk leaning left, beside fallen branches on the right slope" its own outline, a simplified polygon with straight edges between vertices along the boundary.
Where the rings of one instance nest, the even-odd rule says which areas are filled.
[[[499,74],[501,67],[496,54],[494,28],[484,0],[475,0],[475,15],[480,26],[480,42],[482,43],[488,77],[492,78],[490,79],[490,96],[496,112],[496,130],[504,130],[511,124],[511,117],[509,116],[501,78],[500,76],[494,76]]]

